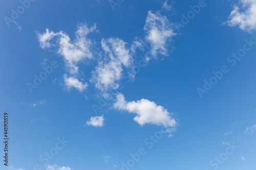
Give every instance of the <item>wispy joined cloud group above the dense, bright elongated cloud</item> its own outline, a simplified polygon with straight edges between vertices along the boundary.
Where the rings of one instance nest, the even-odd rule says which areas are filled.
[[[167,6],[166,6],[167,7]],[[118,83],[124,70],[129,72],[129,76],[135,77],[134,59],[136,50],[143,50],[145,46],[151,48],[151,52],[146,53],[146,60],[150,57],[157,59],[158,55],[167,55],[168,42],[176,34],[171,24],[165,16],[159,12],[148,11],[145,20],[144,39],[134,38],[129,44],[120,38],[107,38],[101,40],[101,49],[93,49],[94,41],[88,38],[88,35],[97,32],[96,24],[88,27],[86,24],[80,24],[75,32],[75,39],[71,41],[68,34],[63,31],[53,32],[46,29],[45,33],[38,33],[38,40],[41,48],[57,47],[57,53],[62,56],[68,66],[70,77],[64,75],[67,89],[75,87],[79,91],[87,88],[88,84],[82,84],[74,75],[79,74],[78,63],[84,59],[97,59],[98,63],[95,70],[92,70],[91,83],[101,91],[118,88]],[[95,56],[94,54],[99,54]]]

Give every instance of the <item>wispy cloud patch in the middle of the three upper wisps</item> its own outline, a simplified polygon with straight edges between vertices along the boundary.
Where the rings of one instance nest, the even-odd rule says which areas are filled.
[[[96,87],[101,90],[116,89],[123,68],[132,68],[133,58],[126,42],[119,38],[102,39],[101,46],[104,57],[93,71],[91,82],[95,82]]]

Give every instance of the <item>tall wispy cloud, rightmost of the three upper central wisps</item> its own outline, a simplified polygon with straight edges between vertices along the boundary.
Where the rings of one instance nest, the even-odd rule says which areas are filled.
[[[167,42],[176,35],[173,31],[173,24],[166,16],[159,12],[155,14],[148,11],[144,31],[147,33],[145,39],[151,44],[151,55],[156,58],[157,54],[167,55]]]

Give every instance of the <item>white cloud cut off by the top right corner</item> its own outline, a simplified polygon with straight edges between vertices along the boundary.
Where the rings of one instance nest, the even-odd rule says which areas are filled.
[[[240,0],[239,5],[235,5],[229,20],[229,26],[239,26],[244,31],[256,29],[256,1]]]

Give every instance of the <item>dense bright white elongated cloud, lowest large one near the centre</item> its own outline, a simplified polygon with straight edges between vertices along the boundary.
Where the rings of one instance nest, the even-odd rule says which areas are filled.
[[[171,117],[171,114],[162,106],[158,106],[155,102],[146,99],[140,101],[126,102],[123,94],[117,95],[117,101],[114,108],[125,110],[136,114],[134,121],[141,126],[145,124],[154,124],[165,127],[174,127],[176,121]]]

